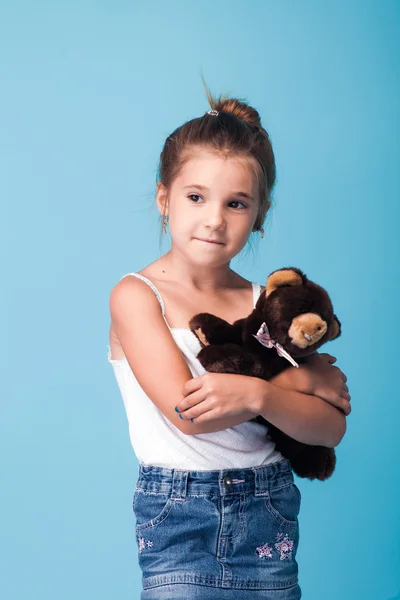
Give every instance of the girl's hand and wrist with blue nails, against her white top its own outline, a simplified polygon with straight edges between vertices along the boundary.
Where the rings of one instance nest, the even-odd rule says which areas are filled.
[[[205,373],[183,386],[185,398],[176,407],[182,419],[202,423],[254,412],[259,404],[260,380],[248,375]],[[256,416],[258,413],[254,412]]]

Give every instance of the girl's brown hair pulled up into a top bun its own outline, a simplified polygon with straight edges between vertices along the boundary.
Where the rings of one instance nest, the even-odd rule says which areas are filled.
[[[269,135],[262,127],[256,109],[237,98],[220,95],[214,99],[204,78],[203,84],[211,109],[219,114],[205,113],[187,121],[167,137],[160,155],[157,182],[161,181],[168,195],[168,189],[184,164],[190,160],[192,148],[211,150],[226,158],[248,158],[258,183],[258,213],[253,229],[258,231],[271,206],[271,192],[276,177]],[[163,217],[160,217],[161,235]]]

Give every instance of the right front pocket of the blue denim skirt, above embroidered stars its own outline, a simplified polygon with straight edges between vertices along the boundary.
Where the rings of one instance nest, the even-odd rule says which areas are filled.
[[[281,526],[296,528],[301,505],[301,493],[293,482],[271,488],[264,498],[264,506]]]

